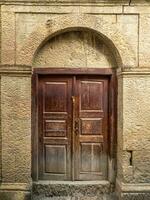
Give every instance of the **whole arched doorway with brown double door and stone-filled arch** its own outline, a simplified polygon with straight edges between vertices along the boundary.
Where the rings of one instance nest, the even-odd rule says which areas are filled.
[[[35,180],[109,180],[116,142],[111,50],[93,32],[66,32],[37,52],[34,66]]]

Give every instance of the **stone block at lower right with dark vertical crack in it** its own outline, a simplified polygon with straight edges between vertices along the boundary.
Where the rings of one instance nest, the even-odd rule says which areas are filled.
[[[119,151],[117,177],[124,183],[148,183],[150,151]]]

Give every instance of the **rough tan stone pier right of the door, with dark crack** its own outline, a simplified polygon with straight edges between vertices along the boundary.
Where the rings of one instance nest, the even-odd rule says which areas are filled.
[[[146,183],[150,178],[150,76],[126,75],[123,87],[120,79],[118,83],[118,178],[126,183]]]

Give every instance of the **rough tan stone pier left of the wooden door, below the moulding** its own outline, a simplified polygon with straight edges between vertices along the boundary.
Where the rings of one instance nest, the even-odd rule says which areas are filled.
[[[2,76],[2,181],[31,180],[31,78]]]

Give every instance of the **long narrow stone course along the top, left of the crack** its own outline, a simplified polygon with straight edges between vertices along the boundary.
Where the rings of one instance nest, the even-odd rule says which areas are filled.
[[[37,1],[37,0],[36,0]],[[92,2],[91,2],[92,3]],[[95,2],[94,2],[95,3]],[[79,3],[78,3],[79,4]],[[2,11],[6,12],[15,12],[20,15],[25,14],[28,15],[32,12],[34,12],[36,15],[39,15],[40,13],[45,14],[62,14],[62,13],[91,13],[91,14],[116,14],[116,13],[122,13],[122,6],[121,5],[107,5],[107,6],[96,6],[96,3],[94,6],[86,5],[84,6],[84,3],[82,4],[80,2],[80,6],[76,5],[59,5],[56,6],[54,4],[52,5],[44,5],[43,6],[15,6],[15,5],[2,5]]]

